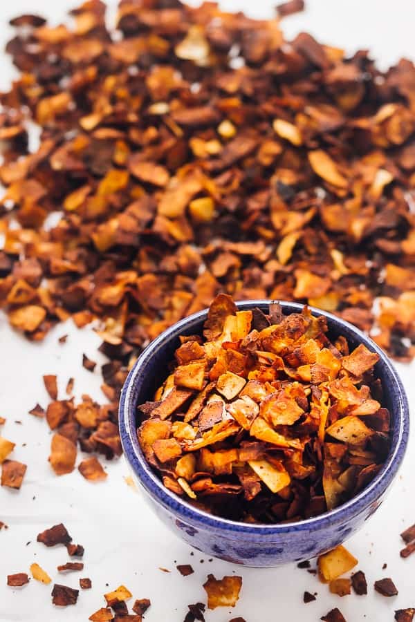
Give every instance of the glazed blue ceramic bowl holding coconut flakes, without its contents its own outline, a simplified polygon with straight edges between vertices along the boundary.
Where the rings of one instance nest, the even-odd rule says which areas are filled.
[[[238,302],[240,310],[259,307],[268,312],[270,301]],[[282,303],[284,314],[301,312],[302,305]],[[376,375],[381,379],[385,406],[391,413],[391,449],[376,478],[353,499],[315,518],[284,525],[251,525],[212,516],[194,508],[167,490],[147,464],[136,434],[137,405],[153,399],[154,390],[167,376],[181,334],[201,334],[207,310],[187,317],[160,334],[136,361],[124,384],[120,401],[120,434],[124,454],[151,507],[179,538],[209,556],[253,567],[277,566],[312,558],[342,543],[362,527],[382,503],[403,460],[409,432],[405,391],[396,370],[376,343],[360,330],[330,313],[324,315],[332,338],[344,335],[351,348],[364,343],[377,352]]]

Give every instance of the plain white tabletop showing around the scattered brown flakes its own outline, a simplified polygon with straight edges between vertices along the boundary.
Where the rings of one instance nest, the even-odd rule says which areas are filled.
[[[271,14],[274,1],[228,0],[223,6],[245,9],[251,15]],[[353,51],[369,48],[387,66],[400,55],[415,58],[413,0],[308,0],[305,14],[284,21],[288,36],[300,30],[336,46]],[[10,36],[6,21],[20,12],[42,12],[54,22],[72,6],[66,0],[42,0],[34,5],[29,0],[1,3],[0,46]],[[12,78],[6,59],[0,76],[4,88]],[[69,333],[65,345],[57,338]],[[0,520],[9,529],[0,532],[0,622],[78,622],[104,605],[102,594],[124,583],[134,598],[149,598],[153,603],[147,613],[148,622],[183,622],[188,603],[205,600],[202,584],[208,572],[216,577],[241,574],[241,599],[230,611],[220,608],[208,611],[207,622],[228,622],[243,616],[246,622],[312,622],[333,607],[339,607],[347,622],[387,622],[394,619],[394,610],[415,607],[415,555],[407,560],[399,557],[402,541],[400,531],[415,522],[415,442],[412,438],[403,469],[387,502],[365,528],[347,543],[359,559],[359,568],[367,576],[368,596],[346,596],[340,599],[329,594],[326,585],[305,570],[288,566],[281,569],[243,569],[213,560],[211,563],[169,534],[147,509],[140,493],[128,487],[124,459],[107,463],[107,482],[91,484],[77,471],[57,478],[46,460],[50,433],[46,422],[28,415],[36,402],[48,403],[41,376],[57,373],[60,395],[69,377],[75,377],[75,395],[100,395],[100,374],[91,374],[81,367],[82,352],[102,362],[96,353],[99,340],[91,330],[77,331],[73,326],[59,326],[42,345],[30,344],[12,333],[0,314],[0,415],[7,417],[0,433],[17,444],[13,458],[28,464],[26,479],[20,491],[0,488]],[[414,366],[398,366],[413,402]],[[20,420],[21,424],[15,423]],[[80,458],[80,457],[79,457]],[[67,560],[66,549],[47,549],[36,542],[39,531],[64,522],[75,543],[84,545],[85,569],[80,573],[58,574],[56,566]],[[28,543],[26,545],[26,543]],[[192,563],[195,573],[182,577],[177,563]],[[36,561],[57,583],[78,587],[78,578],[89,576],[92,590],[81,590],[75,607],[51,605],[51,585],[30,581],[24,588],[6,587],[6,575],[28,572]],[[387,569],[382,570],[383,563]],[[158,567],[172,572],[166,574]],[[391,576],[399,590],[396,598],[385,599],[374,593],[376,579]],[[109,587],[107,587],[107,584]],[[304,605],[304,590],[318,592],[317,600]],[[132,604],[133,601],[130,601]]]

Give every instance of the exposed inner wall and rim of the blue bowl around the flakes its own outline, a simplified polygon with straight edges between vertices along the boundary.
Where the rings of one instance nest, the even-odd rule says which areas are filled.
[[[263,312],[268,312],[270,301],[241,301],[237,303],[239,310],[248,310],[252,308],[259,308]],[[301,312],[303,305],[298,303],[281,303],[282,310],[285,315],[293,312]],[[365,343],[365,346],[380,355],[380,360],[376,364],[375,374],[376,377],[382,381],[382,387],[384,392],[384,398],[382,406],[386,406],[391,413],[391,446],[389,455],[385,461],[381,471],[376,475],[376,478],[368,484],[368,486],[358,493],[357,496],[338,508],[326,512],[320,516],[307,519],[300,522],[295,522],[293,525],[299,525],[300,523],[313,522],[318,520],[322,516],[335,515],[338,511],[344,509],[347,506],[356,502],[358,498],[367,494],[368,489],[376,488],[380,480],[384,480],[385,488],[391,482],[391,479],[396,474],[398,466],[405,453],[405,447],[407,444],[407,435],[409,427],[408,406],[405,397],[403,386],[400,383],[400,379],[396,373],[396,370],[391,365],[387,355],[385,355],[374,341],[371,341],[364,333],[352,326],[346,321],[333,316],[328,312],[322,312],[311,308],[311,312],[315,316],[324,315],[327,319],[329,326],[329,338],[335,339],[340,334],[346,337],[349,342],[351,350],[356,348],[359,343]],[[169,363],[174,359],[174,352],[180,345],[180,335],[190,334],[202,334],[203,323],[207,316],[207,310],[187,317],[171,328],[167,329],[163,334],[160,334],[151,344],[146,348],[142,355],[136,361],[136,365],[129,373],[129,377],[122,390],[122,396],[120,401],[120,428],[122,444],[124,446],[124,452],[127,455],[127,459],[132,464],[133,469],[138,471],[139,478],[145,488],[151,487],[154,492],[156,489],[156,495],[162,502],[167,505],[171,505],[169,500],[176,500],[174,506],[177,509],[177,505],[186,506],[193,513],[205,514],[199,509],[194,507],[183,500],[179,500],[174,496],[174,493],[170,493],[165,489],[163,483],[158,479],[158,475],[154,473],[144,455],[142,454],[140,445],[138,444],[136,427],[137,427],[137,406],[142,404],[146,400],[154,399],[154,392],[169,373]],[[376,498],[376,495],[374,495]],[[370,498],[367,498],[367,502],[371,502]],[[210,515],[206,515],[210,516]],[[212,517],[210,520],[213,522],[232,523],[227,519]],[[233,522],[233,524],[236,524]],[[246,525],[245,523],[239,523],[239,525]],[[250,525],[250,528],[255,528],[257,525]],[[263,529],[273,527],[274,529],[278,525],[261,525]],[[286,525],[282,526],[284,529]]]

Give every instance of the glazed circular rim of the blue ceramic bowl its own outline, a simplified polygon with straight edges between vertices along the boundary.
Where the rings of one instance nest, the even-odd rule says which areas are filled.
[[[156,475],[151,466],[148,464],[140,449],[136,433],[136,406],[133,404],[132,390],[137,376],[142,372],[142,368],[145,368],[148,364],[148,361],[151,359],[151,355],[158,350],[160,346],[163,346],[166,341],[176,339],[181,330],[184,330],[189,324],[203,319],[203,317],[205,317],[208,313],[208,308],[198,311],[174,323],[172,326],[169,326],[169,328],[160,333],[156,339],[151,341],[147,348],[145,348],[145,350],[143,350],[141,355],[138,357],[122,388],[119,407],[119,426],[124,455],[127,462],[129,462],[129,465],[133,469],[133,472],[138,477],[140,484],[142,484],[142,487],[145,488],[145,491],[151,496],[151,498],[155,498],[158,503],[163,505],[165,509],[174,513],[178,516],[178,518],[183,518],[183,520],[190,521],[193,524],[198,523],[201,527],[211,527],[221,531],[238,531],[240,534],[251,534],[252,536],[270,536],[271,534],[278,536],[290,533],[291,531],[315,531],[317,529],[329,527],[329,525],[333,525],[333,523],[338,522],[339,520],[341,522],[346,522],[356,513],[359,513],[362,509],[365,509],[373,502],[376,502],[379,496],[387,489],[391,481],[394,479],[407,449],[409,435],[409,404],[407,401],[407,395],[396,369],[393,364],[391,364],[391,361],[385,352],[383,352],[379,346],[367,336],[367,334],[356,328],[356,326],[353,326],[353,324],[333,315],[328,311],[315,308],[311,305],[304,305],[302,303],[295,303],[291,301],[273,301],[270,299],[236,301],[235,304],[237,305],[238,310],[251,310],[252,308],[261,308],[274,302],[279,302],[282,305],[283,310],[288,310],[288,313],[284,314],[301,312],[304,306],[308,306],[313,315],[323,315],[329,321],[329,325],[337,324],[339,327],[352,332],[360,343],[364,343],[369,350],[376,352],[380,356],[382,364],[385,366],[387,374],[392,381],[391,385],[387,387],[387,390],[390,393],[395,393],[394,399],[397,402],[397,404],[395,404],[395,416],[397,417],[398,422],[396,444],[393,451],[389,453],[382,469],[380,469],[379,473],[376,474],[376,477],[371,480],[365,489],[333,510],[329,510],[318,516],[313,516],[311,518],[306,518],[296,522],[264,524],[246,523],[237,520],[230,520],[228,518],[221,518],[194,507],[190,504],[190,502],[187,502],[187,500],[183,500],[172,491],[169,491],[169,489],[165,488],[163,482],[161,482],[158,475]]]

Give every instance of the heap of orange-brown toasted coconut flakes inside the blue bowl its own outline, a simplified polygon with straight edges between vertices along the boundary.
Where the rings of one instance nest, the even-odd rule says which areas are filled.
[[[174,371],[139,406],[138,439],[165,487],[246,522],[317,516],[350,499],[389,451],[378,355],[328,337],[308,308],[287,316],[210,305]]]

